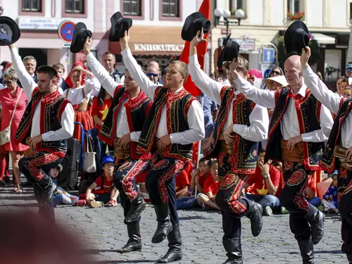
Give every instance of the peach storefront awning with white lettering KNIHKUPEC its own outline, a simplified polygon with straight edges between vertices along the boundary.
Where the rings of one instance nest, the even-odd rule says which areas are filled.
[[[184,48],[181,27],[147,27],[130,28],[130,49],[134,55],[179,56]],[[109,50],[120,54],[118,42],[109,42]]]

